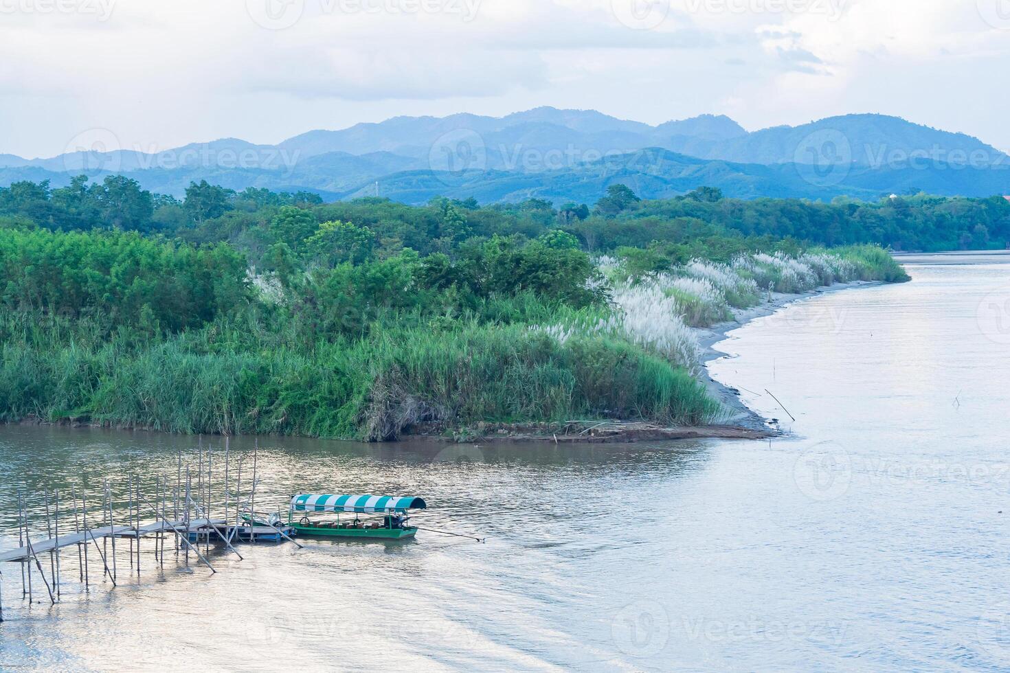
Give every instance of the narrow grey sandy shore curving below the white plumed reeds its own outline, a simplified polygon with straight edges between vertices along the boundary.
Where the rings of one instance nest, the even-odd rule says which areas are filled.
[[[811,297],[816,297],[817,295],[823,295],[829,292],[838,292],[839,290],[848,290],[850,288],[866,288],[879,285],[883,284],[879,282],[855,281],[853,283],[837,283],[830,287],[818,288],[817,290],[812,290],[808,293],[802,293],[799,295],[772,293],[771,298],[764,304],[750,307],[749,309],[733,309],[733,319],[730,321],[719,323],[718,325],[713,325],[712,327],[696,328],[694,331],[698,337],[698,343],[701,345],[701,361],[704,369],[702,371],[701,380],[705,383],[709,394],[722,403],[723,407],[727,410],[727,416],[721,420],[721,423],[726,426],[733,426],[752,431],[777,431],[775,426],[771,423],[771,420],[762,417],[760,414],[740,402],[738,390],[727,385],[723,385],[709,375],[707,366],[709,362],[722,357],[728,357],[726,353],[716,350],[714,348],[715,344],[729,338],[730,332],[743,327],[743,325],[754,318],[770,316],[779,309],[782,309],[794,302],[809,299]]]

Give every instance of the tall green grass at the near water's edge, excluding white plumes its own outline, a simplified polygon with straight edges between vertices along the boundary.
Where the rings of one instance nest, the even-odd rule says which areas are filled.
[[[696,425],[718,413],[686,370],[607,335],[559,340],[521,324],[464,321],[252,350],[220,347],[215,328],[154,344],[61,344],[22,332],[2,347],[3,418],[388,440],[418,423]]]

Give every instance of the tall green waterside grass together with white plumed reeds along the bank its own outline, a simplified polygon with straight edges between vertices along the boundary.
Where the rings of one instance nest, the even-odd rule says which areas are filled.
[[[697,425],[720,410],[694,377],[690,325],[725,320],[769,289],[907,279],[873,246],[694,260],[638,278],[613,259],[601,266],[608,306],[493,296],[462,312],[384,314],[354,338],[272,322],[276,301],[170,337],[112,328],[97,314],[5,312],[0,419],[366,440],[482,421]]]

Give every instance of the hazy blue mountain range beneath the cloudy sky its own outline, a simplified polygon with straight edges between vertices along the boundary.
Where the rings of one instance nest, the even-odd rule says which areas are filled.
[[[541,107],[505,117],[394,117],[276,145],[223,138],[160,152],[115,148],[109,132],[93,136],[82,134],[71,151],[50,158],[0,154],[0,186],[48,180],[59,187],[82,173],[96,180],[121,174],[177,197],[206,180],[235,190],[310,191],[328,201],[378,195],[412,204],[433,196],[593,203],[617,182],[643,198],[703,185],[738,198],[1010,194],[1004,152],[877,114],[748,132],[725,116],[652,126]]]

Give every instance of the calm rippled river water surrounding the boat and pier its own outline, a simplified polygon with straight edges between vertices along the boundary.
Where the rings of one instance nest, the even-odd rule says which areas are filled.
[[[68,581],[56,607],[37,576],[42,602],[23,601],[6,564],[0,667],[1005,670],[1004,259],[911,259],[911,284],[821,295],[734,332],[721,347],[735,356],[713,374],[788,438],[261,438],[258,506],[306,490],[416,493],[429,509],[415,523],[487,543],[421,532],[396,544],[245,545],[241,561],[214,552],[214,575],[174,554],[162,570],[144,543],[129,579],[121,542],[119,586],[93,563],[97,584],[85,593]],[[219,461],[221,440],[209,443]],[[0,428],[2,546],[16,546],[16,489],[37,510],[30,494],[43,488],[94,494],[103,476],[174,475],[177,452],[195,461],[195,444]],[[230,443],[232,457],[251,449]],[[76,552],[62,561],[77,579]]]

